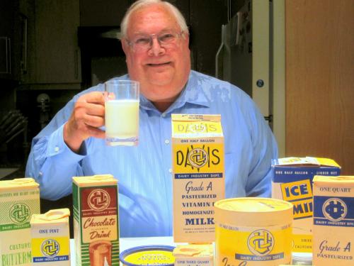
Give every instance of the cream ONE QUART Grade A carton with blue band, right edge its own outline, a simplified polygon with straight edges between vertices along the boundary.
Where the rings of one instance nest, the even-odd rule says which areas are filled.
[[[354,265],[354,176],[314,177],[314,265]]]

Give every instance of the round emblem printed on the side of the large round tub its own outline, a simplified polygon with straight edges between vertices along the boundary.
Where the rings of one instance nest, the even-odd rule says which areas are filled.
[[[265,229],[253,231],[247,240],[249,250],[254,255],[263,256],[270,253],[274,247],[274,237],[272,233]]]

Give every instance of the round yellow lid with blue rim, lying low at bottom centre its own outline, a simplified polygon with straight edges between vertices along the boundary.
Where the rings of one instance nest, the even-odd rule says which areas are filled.
[[[125,266],[172,266],[175,262],[174,248],[171,245],[141,245],[120,253],[120,262]]]

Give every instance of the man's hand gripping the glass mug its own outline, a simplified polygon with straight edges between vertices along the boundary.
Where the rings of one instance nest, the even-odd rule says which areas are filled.
[[[105,138],[99,127],[105,124],[105,100],[102,92],[90,92],[79,97],[72,116],[64,125],[64,142],[75,153],[89,137]]]

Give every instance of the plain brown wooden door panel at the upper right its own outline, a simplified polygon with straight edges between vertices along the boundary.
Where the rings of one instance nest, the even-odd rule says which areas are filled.
[[[354,174],[353,0],[287,0],[286,155]]]

